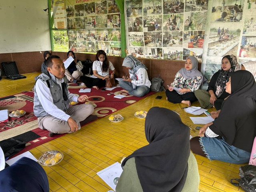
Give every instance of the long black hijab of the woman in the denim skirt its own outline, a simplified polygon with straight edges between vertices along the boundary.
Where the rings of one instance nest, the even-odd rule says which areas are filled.
[[[233,72],[230,81],[231,95],[222,103],[210,129],[229,145],[251,152],[256,136],[256,82],[246,70]]]

